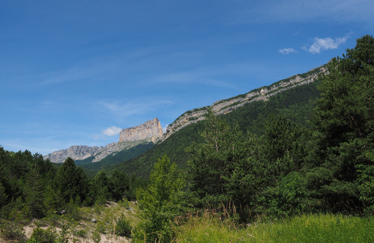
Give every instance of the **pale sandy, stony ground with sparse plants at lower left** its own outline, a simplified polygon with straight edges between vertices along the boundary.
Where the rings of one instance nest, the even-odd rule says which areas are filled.
[[[95,227],[97,226],[97,223],[90,222],[91,219],[96,219],[98,222],[113,222],[113,220],[118,219],[118,217],[124,213],[126,219],[130,222],[130,225],[133,227],[139,222],[138,214],[139,209],[137,207],[136,202],[129,202],[128,207],[132,208],[132,210],[126,209],[127,207],[123,207],[124,204],[122,203],[115,203],[115,202],[107,202],[106,206],[102,206],[101,213],[98,214],[97,211],[95,211],[94,208],[81,208],[81,215],[82,220],[80,220],[77,224],[77,229],[84,229],[86,230],[87,234],[84,238],[73,236],[71,234],[71,240],[70,243],[94,243],[92,239],[92,233],[95,230]],[[30,238],[31,234],[33,233],[34,228],[36,228],[36,224],[42,224],[40,228],[47,229],[49,227],[48,221],[43,222],[41,220],[33,219],[32,222],[24,226],[24,233],[27,239]],[[61,231],[61,228],[56,226],[57,232]],[[100,234],[101,241],[100,243],[128,243],[131,242],[131,238],[126,238],[122,236],[117,235],[111,235],[111,234]],[[75,241],[73,241],[73,238],[75,238]],[[0,238],[0,243],[5,243],[6,241],[2,240]]]

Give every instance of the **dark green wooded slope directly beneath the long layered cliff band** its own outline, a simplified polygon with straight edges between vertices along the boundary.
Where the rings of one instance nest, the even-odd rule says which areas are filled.
[[[259,135],[262,135],[263,125],[270,114],[283,114],[299,126],[308,127],[314,107],[313,101],[319,97],[318,83],[316,81],[290,88],[269,97],[266,101],[247,103],[221,116],[230,125],[238,122],[244,133],[250,132]],[[172,162],[184,168],[188,158],[185,148],[194,140],[202,141],[199,132],[203,131],[204,127],[204,121],[185,126],[171,134],[163,142],[158,142],[146,153],[114,165],[106,169],[106,172],[110,174],[112,170],[118,169],[147,178],[153,164],[164,154],[167,154]]]

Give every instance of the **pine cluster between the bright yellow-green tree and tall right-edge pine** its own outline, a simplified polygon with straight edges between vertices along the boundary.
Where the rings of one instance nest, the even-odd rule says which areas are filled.
[[[203,201],[216,197],[219,202],[226,195],[236,205],[255,206],[282,176],[298,170],[301,132],[284,117],[270,120],[265,137],[245,138],[238,125],[231,129],[209,109],[206,130],[201,133],[205,142],[187,148],[191,190]]]

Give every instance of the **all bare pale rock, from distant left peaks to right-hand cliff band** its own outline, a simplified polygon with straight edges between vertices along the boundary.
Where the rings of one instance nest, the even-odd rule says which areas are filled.
[[[306,85],[315,82],[319,73],[326,72],[326,65],[311,69],[310,71],[291,76],[280,80],[270,86],[259,87],[245,94],[241,94],[229,99],[214,102],[211,107],[216,114],[227,114],[238,107],[254,101],[266,101],[269,97],[281,93],[287,89]],[[170,135],[186,127],[187,125],[197,123],[204,120],[204,115],[209,106],[195,108],[186,111],[175,121],[168,125],[165,134],[163,133],[160,121],[154,118],[141,125],[125,128],[120,132],[118,142],[110,143],[105,147],[88,147],[88,146],[72,146],[66,150],[59,150],[43,156],[49,158],[52,162],[63,162],[68,156],[76,160],[90,159],[94,157],[92,162],[98,162],[106,156],[115,156],[116,153],[137,146],[144,142],[153,142],[168,139]]]

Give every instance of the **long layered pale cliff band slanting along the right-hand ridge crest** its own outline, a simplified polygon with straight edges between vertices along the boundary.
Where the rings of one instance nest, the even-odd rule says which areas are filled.
[[[289,88],[314,82],[317,79],[318,74],[323,72],[326,72],[325,65],[322,65],[316,69],[312,69],[304,75],[298,74],[284,79],[280,82],[276,82],[272,86],[261,87],[249,91],[248,93],[245,93],[243,95],[238,95],[230,99],[217,101],[213,103],[211,107],[217,115],[226,114],[240,106],[243,106],[244,104],[254,101],[266,101],[270,96],[276,95]],[[163,140],[167,139],[171,134],[189,124],[204,120],[204,114],[206,114],[207,108],[208,106],[196,108],[182,114],[173,123],[168,125]]]

